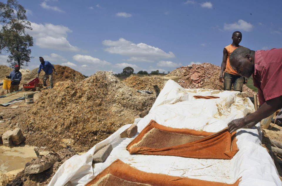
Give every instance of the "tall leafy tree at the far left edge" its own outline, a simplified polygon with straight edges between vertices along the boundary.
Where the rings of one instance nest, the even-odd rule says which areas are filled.
[[[0,22],[4,23],[0,31],[0,50],[10,54],[7,62],[11,67],[24,63],[27,66],[32,58],[29,47],[33,46],[33,38],[25,32],[25,29],[32,30],[26,10],[16,0],[0,2]]]

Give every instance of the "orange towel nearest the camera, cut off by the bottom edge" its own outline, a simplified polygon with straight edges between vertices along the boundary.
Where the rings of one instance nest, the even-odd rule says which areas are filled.
[[[115,160],[110,166],[105,168],[100,174],[88,182],[85,186],[91,185],[123,185],[123,186],[237,186],[240,178],[233,184],[212,182],[192,178],[184,178],[179,176],[170,176],[165,174],[147,173],[136,168],[133,168],[119,159]]]

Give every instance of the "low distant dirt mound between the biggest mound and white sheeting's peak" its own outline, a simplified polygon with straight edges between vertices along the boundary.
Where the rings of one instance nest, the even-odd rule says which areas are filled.
[[[149,90],[153,92],[155,92],[153,85],[158,85],[160,90],[164,87],[164,79],[163,76],[160,75],[146,75],[143,77],[133,75],[122,82],[135,89]]]

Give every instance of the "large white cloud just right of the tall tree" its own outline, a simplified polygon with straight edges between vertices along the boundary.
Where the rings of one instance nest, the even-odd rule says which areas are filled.
[[[72,46],[66,38],[67,32],[72,32],[68,27],[51,23],[45,23],[45,25],[31,23],[31,27],[32,30],[28,30],[28,33],[33,37],[34,43],[38,47],[62,51],[79,51],[79,48]]]

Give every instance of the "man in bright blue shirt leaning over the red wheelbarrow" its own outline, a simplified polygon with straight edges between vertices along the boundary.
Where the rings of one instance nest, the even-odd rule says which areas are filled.
[[[38,78],[38,76],[41,72],[41,69],[43,69],[43,71],[45,72],[45,75],[43,77],[43,86],[45,86],[45,87],[47,86],[46,80],[49,78],[50,88],[52,89],[53,88],[53,80],[52,80],[53,71],[56,75],[58,75],[58,74],[57,74],[54,66],[49,61],[44,61],[43,57],[39,57],[39,60],[40,60],[41,64],[39,65],[39,69],[38,69],[36,78]]]

